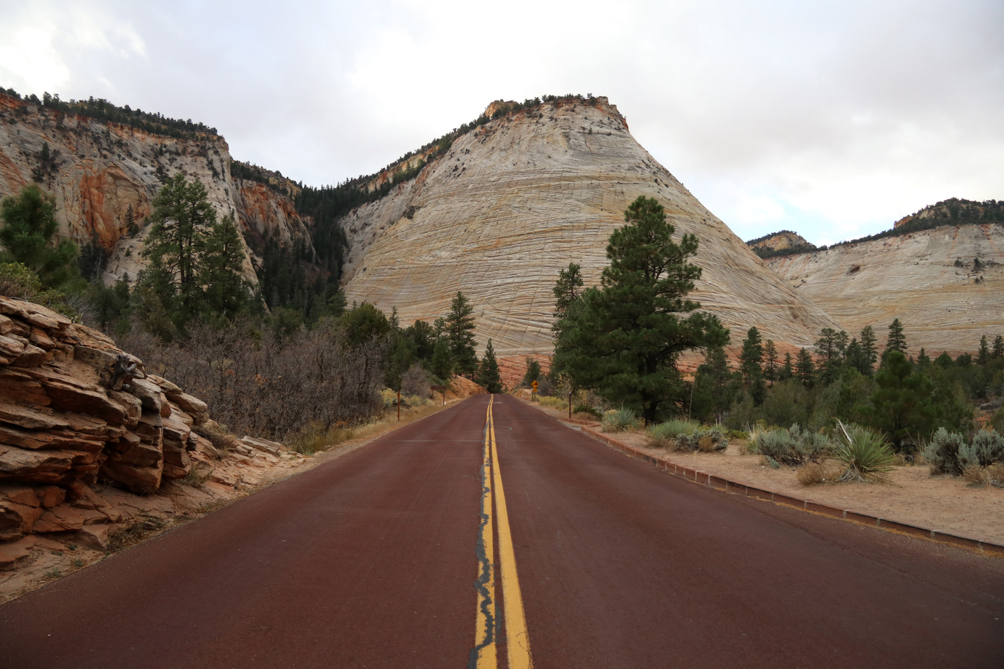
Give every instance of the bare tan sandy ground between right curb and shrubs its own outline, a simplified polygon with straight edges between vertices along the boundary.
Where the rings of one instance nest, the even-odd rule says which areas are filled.
[[[567,413],[533,406],[555,418],[567,418]],[[761,465],[760,456],[746,453],[745,441],[731,442],[724,453],[668,453],[647,448],[644,433],[610,436],[737,483],[1004,544],[1004,490],[971,485],[955,476],[932,476],[927,465],[896,467],[889,483],[803,486],[795,478],[794,468]]]

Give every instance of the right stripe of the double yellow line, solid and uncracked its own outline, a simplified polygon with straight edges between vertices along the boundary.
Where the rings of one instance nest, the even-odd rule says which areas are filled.
[[[494,398],[493,398],[494,400]],[[492,402],[488,403],[488,431],[492,441],[492,471],[495,478],[495,508],[499,530],[499,571],[502,579],[502,599],[505,615],[506,654],[509,669],[532,669],[533,656],[530,654],[530,635],[526,630],[526,616],[523,612],[523,596],[519,590],[516,575],[516,552],[509,532],[509,513],[505,505],[505,491],[502,488],[502,472],[499,469],[498,449],[495,446],[495,418]]]

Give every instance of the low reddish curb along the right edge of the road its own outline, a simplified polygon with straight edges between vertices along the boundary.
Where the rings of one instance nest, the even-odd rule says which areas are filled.
[[[735,494],[746,495],[747,497],[757,497],[758,499],[764,499],[767,501],[772,501],[775,504],[784,504],[786,506],[792,506],[794,508],[800,508],[805,511],[812,511],[814,513],[822,513],[823,515],[829,515],[834,518],[841,518],[843,520],[849,520],[851,522],[857,522],[863,525],[870,525],[872,527],[878,527],[880,529],[885,529],[887,531],[899,532],[901,534],[910,534],[912,536],[920,536],[933,541],[938,541],[941,543],[950,543],[956,546],[962,546],[965,548],[972,548],[973,550],[978,550],[989,555],[998,555],[1004,558],[1004,545],[996,543],[994,541],[988,541],[986,539],[972,538],[969,536],[959,536],[957,534],[952,534],[950,532],[942,531],[940,529],[931,529],[930,527],[921,527],[920,525],[914,525],[909,522],[904,522],[902,520],[896,520],[894,518],[884,518],[875,515],[870,515],[868,513],[863,513],[861,511],[856,511],[850,508],[839,508],[837,506],[829,506],[828,504],[822,504],[819,502],[814,502],[809,499],[800,499],[798,497],[792,497],[790,495],[781,494],[780,492],[774,492],[773,490],[767,490],[764,488],[758,488],[753,485],[747,485],[740,481],[733,481],[727,478],[721,478],[708,472],[701,471],[700,469],[694,469],[692,467],[685,467],[684,465],[677,464],[672,460],[669,460],[658,455],[650,455],[645,453],[638,448],[631,446],[629,444],[612,439],[607,435],[594,430],[589,427],[590,423],[587,421],[578,421],[572,419],[569,421],[566,418],[556,419],[562,423],[572,422],[576,425],[581,426],[581,431],[588,434],[593,439],[600,441],[611,448],[615,448],[624,455],[648,462],[649,464],[655,465],[657,469],[665,471],[668,474],[673,474],[674,476],[680,476],[681,478],[686,478],[688,481],[694,481],[695,483],[700,483],[702,485],[709,485],[713,488],[719,490],[724,490],[725,492],[732,492]]]

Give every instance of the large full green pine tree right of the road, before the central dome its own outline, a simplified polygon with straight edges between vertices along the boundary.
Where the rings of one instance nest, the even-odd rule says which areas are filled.
[[[596,389],[652,422],[686,404],[679,356],[724,341],[727,330],[686,298],[701,276],[688,262],[697,237],[674,242],[663,206],[645,196],[624,221],[610,235],[600,287],[584,290],[559,323],[554,365],[575,386]]]

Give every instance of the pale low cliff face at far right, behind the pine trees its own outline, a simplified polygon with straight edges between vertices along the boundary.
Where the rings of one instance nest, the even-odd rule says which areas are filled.
[[[973,352],[1004,334],[1004,224],[945,226],[771,258],[793,289],[856,334],[881,343],[903,321],[913,354]]]

